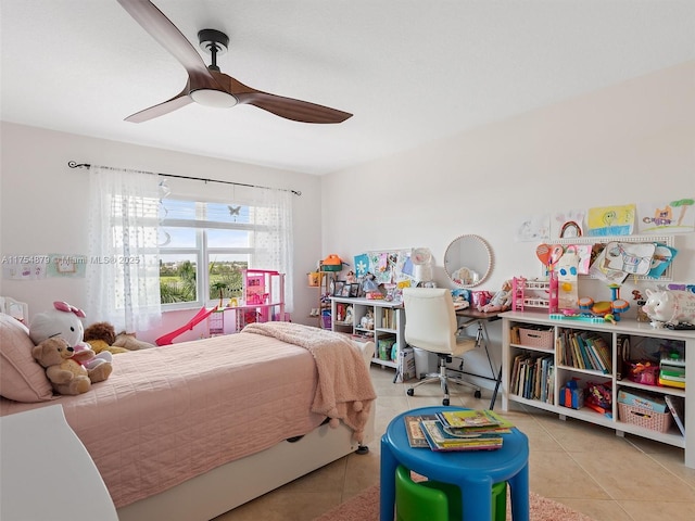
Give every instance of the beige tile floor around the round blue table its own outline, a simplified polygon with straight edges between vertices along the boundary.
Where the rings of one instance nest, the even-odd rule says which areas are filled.
[[[293,481],[216,521],[311,521],[379,482],[379,439],[404,410],[441,405],[439,385],[422,385],[416,396],[392,383],[393,371],[371,368],[377,390],[377,425],[369,454],[350,455]],[[452,385],[452,405],[486,408],[489,394]],[[500,411],[501,399],[495,405]],[[695,520],[695,470],[683,450],[578,420],[515,407],[504,414],[529,436],[531,491],[579,510],[596,521]]]

